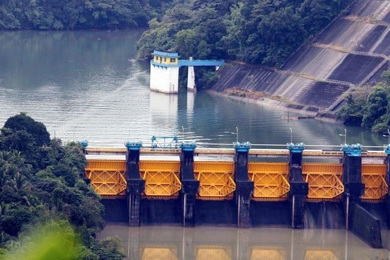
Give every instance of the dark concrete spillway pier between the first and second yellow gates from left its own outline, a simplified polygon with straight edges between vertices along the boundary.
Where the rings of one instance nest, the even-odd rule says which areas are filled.
[[[140,225],[140,206],[141,194],[145,188],[145,180],[142,180],[139,175],[139,150],[142,147],[141,141],[127,141],[126,155],[126,198],[129,210],[129,226]]]

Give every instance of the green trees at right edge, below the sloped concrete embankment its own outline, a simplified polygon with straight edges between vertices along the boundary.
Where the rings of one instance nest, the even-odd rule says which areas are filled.
[[[347,104],[336,114],[352,124],[360,124],[374,132],[390,129],[390,69],[382,74],[382,81],[367,94],[347,97]]]

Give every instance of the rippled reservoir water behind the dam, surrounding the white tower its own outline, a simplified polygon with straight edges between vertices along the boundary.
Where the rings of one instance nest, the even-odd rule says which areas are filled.
[[[345,126],[318,120],[280,120],[272,107],[179,89],[149,90],[149,63],[137,61],[142,30],[0,32],[0,125],[21,111],[64,141],[123,146],[153,135],[203,142],[306,144],[344,142]],[[382,135],[347,127],[350,143],[382,145]],[[130,137],[129,137],[130,136]]]

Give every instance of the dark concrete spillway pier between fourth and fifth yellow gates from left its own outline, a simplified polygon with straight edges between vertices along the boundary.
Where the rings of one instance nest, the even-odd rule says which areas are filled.
[[[291,213],[291,227],[304,228],[303,213],[305,197],[309,194],[309,183],[302,177],[302,154],[304,143],[288,143],[289,155],[289,202]]]

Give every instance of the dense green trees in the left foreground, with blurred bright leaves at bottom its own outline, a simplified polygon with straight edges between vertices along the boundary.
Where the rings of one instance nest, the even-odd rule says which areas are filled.
[[[96,240],[104,228],[104,207],[81,178],[85,165],[80,145],[50,140],[46,127],[26,114],[5,122],[0,131],[0,254],[61,259],[50,256],[69,247],[72,252],[63,259],[123,258],[117,239]],[[44,234],[49,237],[38,241]],[[59,241],[64,248],[58,248]]]

